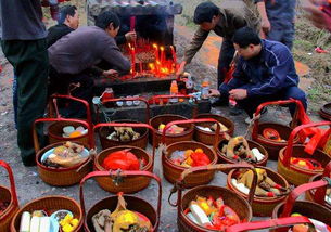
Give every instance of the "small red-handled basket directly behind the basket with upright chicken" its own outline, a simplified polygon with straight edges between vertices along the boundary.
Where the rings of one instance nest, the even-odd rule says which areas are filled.
[[[221,123],[222,125],[225,125],[228,128],[228,130],[225,132],[227,132],[231,137],[233,136],[234,124],[230,119],[222,117],[220,115],[215,115],[215,114],[200,114],[195,117],[195,119],[200,119],[200,118],[216,119],[217,121]],[[204,131],[196,127],[196,126],[211,127],[212,125],[213,124],[211,124],[211,123],[196,124],[194,127],[194,140],[196,140],[198,142],[204,143],[206,145],[213,145],[215,143],[215,132]],[[222,131],[220,131],[220,134],[222,134]]]

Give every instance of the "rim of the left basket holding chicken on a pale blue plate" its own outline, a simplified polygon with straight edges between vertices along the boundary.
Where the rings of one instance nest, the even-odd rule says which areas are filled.
[[[66,142],[66,141],[65,141]],[[64,171],[71,171],[71,170],[76,170],[76,169],[79,169],[81,166],[86,165],[89,160],[90,160],[90,157],[88,157],[85,162],[81,162],[80,164],[78,165],[75,165],[73,167],[69,167],[69,168],[53,168],[53,167],[47,167],[44,165],[42,165],[40,163],[40,158],[41,156],[43,155],[43,153],[48,152],[49,150],[58,146],[58,145],[63,145],[65,142],[58,142],[58,143],[52,143],[48,146],[44,146],[42,150],[40,150],[37,155],[36,155],[36,163],[37,163],[37,166],[43,170],[47,170],[47,171],[53,171],[53,172],[64,172]],[[87,149],[81,142],[77,142],[75,141],[75,143],[78,143],[79,145],[82,145],[85,149]],[[88,150],[88,149],[87,149]]]

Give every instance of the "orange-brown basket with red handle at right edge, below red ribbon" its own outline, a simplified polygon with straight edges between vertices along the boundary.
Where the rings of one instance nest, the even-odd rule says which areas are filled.
[[[282,175],[290,183],[295,185],[307,183],[313,176],[323,172],[323,169],[307,170],[297,167],[295,165],[292,165],[291,164],[292,157],[314,158],[317,162],[319,162],[322,167],[326,167],[328,163],[331,160],[331,157],[329,157],[326,153],[323,153],[320,150],[316,150],[311,156],[305,152],[305,145],[293,144],[293,138],[295,138],[301,130],[305,128],[327,126],[327,125],[331,125],[331,123],[321,121],[321,123],[307,124],[296,127],[290,136],[288,146],[283,147],[279,152],[278,166],[277,166],[278,172]]]

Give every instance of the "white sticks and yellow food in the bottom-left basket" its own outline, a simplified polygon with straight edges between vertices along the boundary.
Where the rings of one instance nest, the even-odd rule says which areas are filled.
[[[20,232],[72,232],[78,224],[79,220],[68,210],[59,210],[50,217],[43,210],[35,210],[33,214],[24,211],[21,217]]]

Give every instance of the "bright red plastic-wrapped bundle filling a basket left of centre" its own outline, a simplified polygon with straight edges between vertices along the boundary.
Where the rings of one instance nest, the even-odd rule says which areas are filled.
[[[103,160],[102,167],[106,170],[140,170],[147,165],[144,158],[138,159],[129,149],[113,152]]]

